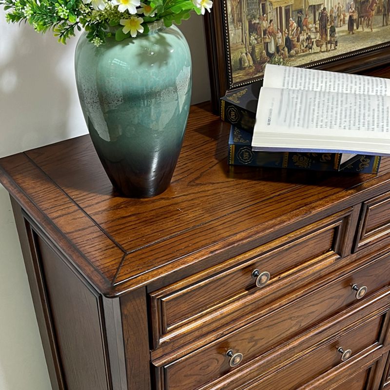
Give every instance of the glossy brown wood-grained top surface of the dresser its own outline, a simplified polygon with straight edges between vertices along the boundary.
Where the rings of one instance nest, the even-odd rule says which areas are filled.
[[[229,166],[229,124],[191,108],[167,191],[113,192],[89,136],[0,160],[0,181],[59,249],[107,296],[250,250],[386,191],[379,174]]]

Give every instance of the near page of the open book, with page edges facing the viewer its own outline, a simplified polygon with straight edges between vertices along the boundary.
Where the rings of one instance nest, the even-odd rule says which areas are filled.
[[[252,146],[390,155],[390,97],[263,87]]]

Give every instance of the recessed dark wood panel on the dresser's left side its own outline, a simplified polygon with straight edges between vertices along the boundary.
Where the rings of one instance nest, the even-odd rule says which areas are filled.
[[[99,298],[36,235],[65,388],[109,390]]]

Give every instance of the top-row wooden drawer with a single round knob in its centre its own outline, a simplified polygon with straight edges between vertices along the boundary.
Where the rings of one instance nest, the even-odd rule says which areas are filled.
[[[268,301],[275,300],[300,284],[308,283],[307,278],[296,277],[303,270],[310,273],[308,269],[312,269],[311,277],[315,279],[316,272],[334,264],[335,259],[346,251],[351,213],[352,209],[348,209],[331,215],[271,244],[237,256],[229,260],[226,267],[229,263],[239,265],[227,270],[217,267],[207,278],[204,273],[199,273],[152,292],[155,348],[168,340],[170,334],[185,331],[185,327],[195,320],[210,324],[215,320],[215,312],[218,312],[219,325],[223,323],[224,311],[230,314],[229,322],[234,321],[234,313],[237,318],[241,317],[240,310],[229,310],[229,304],[238,299],[247,300],[247,306],[251,301],[259,305],[259,300],[264,305],[267,297]],[[256,270],[259,276],[256,276]],[[272,296],[270,292],[274,292]]]

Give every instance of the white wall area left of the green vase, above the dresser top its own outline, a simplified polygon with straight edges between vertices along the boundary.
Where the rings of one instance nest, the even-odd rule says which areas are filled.
[[[86,133],[73,71],[73,38],[9,25],[0,12],[0,156]]]

